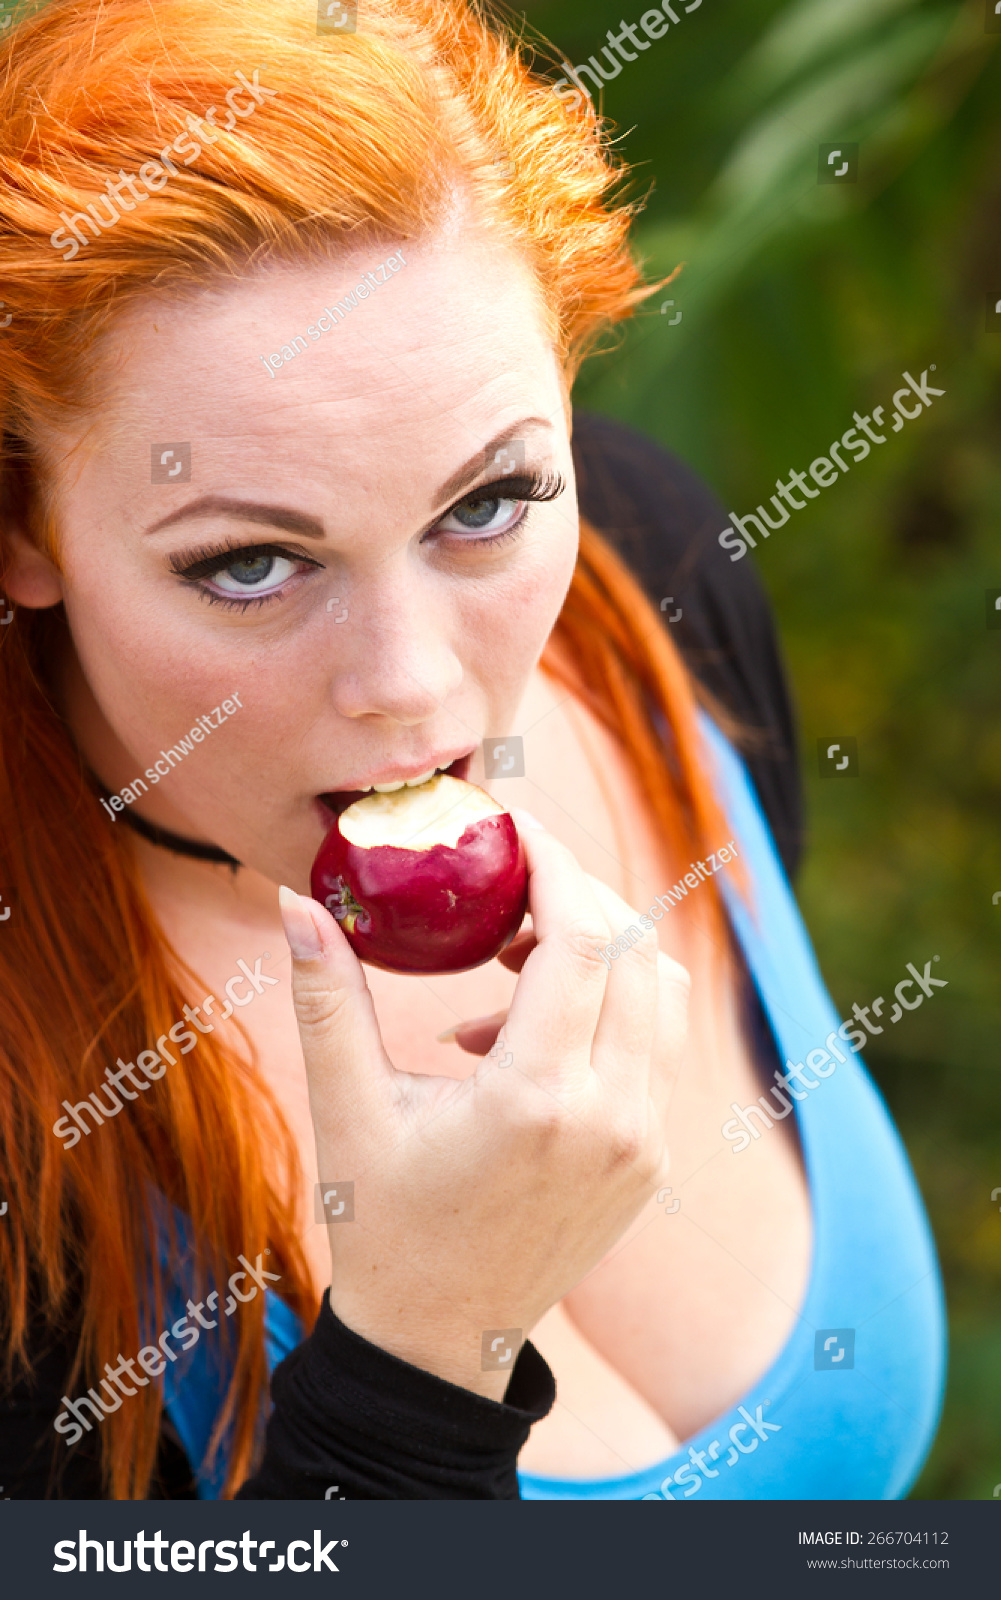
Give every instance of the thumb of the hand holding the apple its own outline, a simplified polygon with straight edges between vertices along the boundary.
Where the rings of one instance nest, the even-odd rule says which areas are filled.
[[[371,1126],[393,1066],[361,962],[318,901],[278,890],[317,1139]]]

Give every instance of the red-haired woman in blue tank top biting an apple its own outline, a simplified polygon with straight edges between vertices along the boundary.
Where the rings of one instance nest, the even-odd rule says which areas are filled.
[[[459,0],[155,18],[53,3],[0,90],[3,1482],[903,1493],[905,1157],[755,730],[574,507],[569,381],[649,293],[598,130]],[[531,926],[361,970],[304,898],[333,814],[512,736]]]

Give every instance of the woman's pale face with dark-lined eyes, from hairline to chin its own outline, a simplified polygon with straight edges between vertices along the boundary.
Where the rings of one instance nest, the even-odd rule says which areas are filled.
[[[577,544],[537,291],[481,238],[366,246],[150,294],[101,371],[82,448],[46,445],[62,573],[18,541],[8,589],[66,603],[109,789],[142,778],[144,816],[305,888],[321,795],[518,731]]]

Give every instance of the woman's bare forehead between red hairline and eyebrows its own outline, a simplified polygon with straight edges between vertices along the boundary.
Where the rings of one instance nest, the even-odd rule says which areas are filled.
[[[350,477],[414,446],[448,474],[520,418],[564,429],[536,285],[478,240],[381,245],[371,261],[363,248],[138,299],[109,330],[98,378],[88,459],[123,485],[149,482],[157,442],[189,446],[192,482],[270,470],[275,451]]]

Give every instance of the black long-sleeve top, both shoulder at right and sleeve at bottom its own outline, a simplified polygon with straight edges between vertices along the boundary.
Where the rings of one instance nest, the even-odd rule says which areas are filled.
[[[574,418],[580,510],[620,552],[670,624],[694,677],[747,730],[744,758],[776,845],[795,870],[801,797],[793,714],[768,600],[750,562],[718,544],[726,515],[680,461],[632,429]],[[0,1224],[2,1226],[2,1224]],[[98,1499],[101,1429],[72,1445],[53,1432],[78,1328],[38,1322],[30,1378],[0,1392],[0,1483],[14,1499]],[[261,1469],[243,1499],[516,1499],[516,1461],[555,1398],[553,1376],[521,1347],[504,1402],[427,1373],[352,1333],[325,1298],[317,1326],[272,1374]],[[58,1470],[56,1470],[58,1469]],[[195,1498],[165,1414],[150,1498]]]

